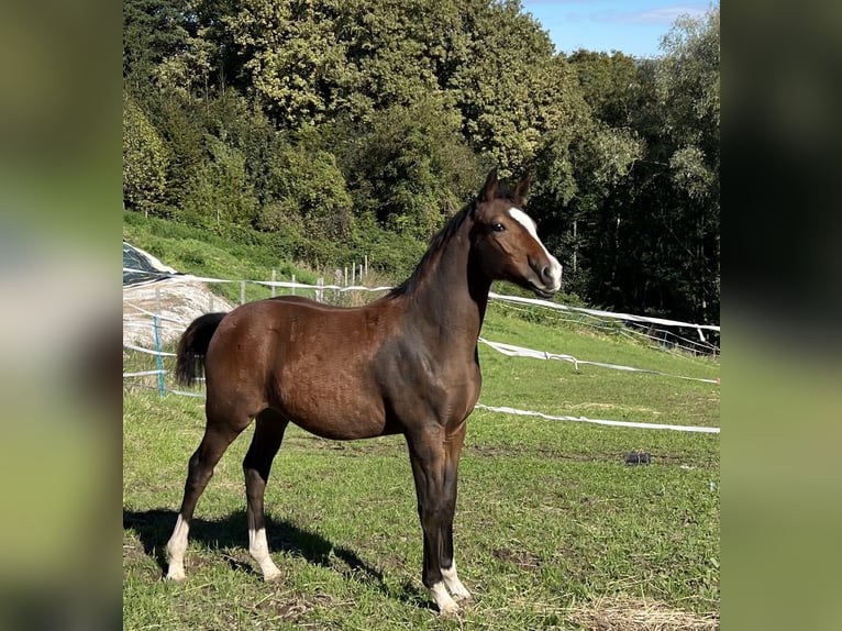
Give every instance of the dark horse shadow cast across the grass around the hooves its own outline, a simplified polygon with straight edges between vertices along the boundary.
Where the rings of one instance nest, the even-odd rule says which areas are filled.
[[[173,533],[177,513],[174,510],[133,511],[123,508],[123,530],[133,530],[137,533],[144,552],[155,560],[162,574],[165,574],[167,569],[164,549]],[[384,595],[390,598],[397,597],[411,604],[426,600],[417,587],[408,583],[396,594],[394,588],[389,588],[384,583],[383,573],[359,558],[356,553],[346,547],[336,546],[322,535],[299,528],[290,521],[278,521],[267,514],[266,536],[273,553],[282,551],[299,555],[312,564],[331,567],[361,583],[375,584]],[[241,547],[247,555],[245,510],[237,510],[218,521],[193,518],[190,524],[190,540],[210,550]],[[251,563],[243,563],[229,555],[224,555],[224,560],[235,571],[259,575]]]

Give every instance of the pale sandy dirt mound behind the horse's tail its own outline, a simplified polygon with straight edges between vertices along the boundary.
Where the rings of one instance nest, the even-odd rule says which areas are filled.
[[[155,347],[153,314],[158,316],[162,346],[174,344],[202,313],[231,311],[234,305],[214,295],[204,283],[177,278],[123,289],[123,344]]]

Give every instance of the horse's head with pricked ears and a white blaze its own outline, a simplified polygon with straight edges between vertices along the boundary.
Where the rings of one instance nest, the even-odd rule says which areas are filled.
[[[562,265],[538,237],[535,222],[523,212],[529,176],[511,193],[499,195],[497,169],[488,174],[472,209],[474,253],[494,280],[509,280],[543,298],[562,286]]]

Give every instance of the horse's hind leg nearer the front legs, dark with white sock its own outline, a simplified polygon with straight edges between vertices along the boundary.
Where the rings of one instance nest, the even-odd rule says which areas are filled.
[[[287,422],[272,409],[257,414],[252,445],[243,460],[245,496],[248,500],[248,552],[261,566],[265,580],[275,580],[280,576],[280,571],[269,556],[263,498],[272,461],[280,449]]]

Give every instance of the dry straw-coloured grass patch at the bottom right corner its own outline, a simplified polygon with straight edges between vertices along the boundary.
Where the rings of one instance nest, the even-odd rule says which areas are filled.
[[[568,619],[591,631],[713,631],[719,615],[698,616],[666,604],[631,596],[600,598],[575,609]]]

